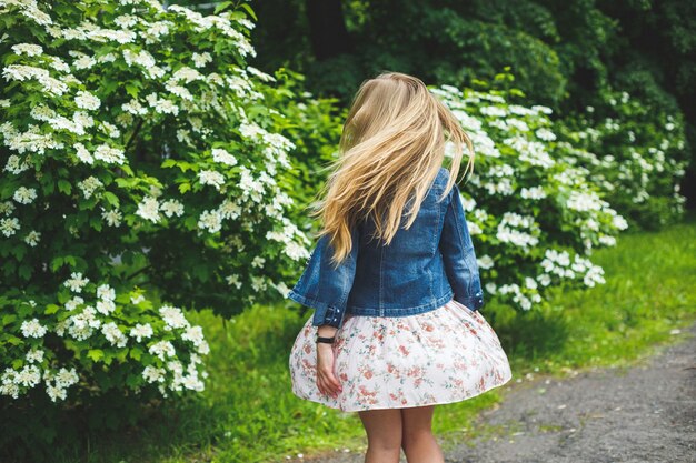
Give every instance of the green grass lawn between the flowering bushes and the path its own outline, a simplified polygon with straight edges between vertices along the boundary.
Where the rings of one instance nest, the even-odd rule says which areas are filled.
[[[660,232],[626,233],[617,248],[597,251],[607,283],[558,288],[548,308],[518,314],[487,304],[481,313],[508,353],[514,383],[528,374],[567,374],[601,365],[630,365],[696,320],[696,220]],[[290,392],[288,355],[310,315],[287,306],[258,308],[222,324],[191,314],[211,345],[206,392],[165,403],[153,417],[119,435],[95,432],[89,451],[57,452],[73,462],[280,462],[286,455],[361,450],[355,413],[299,400]],[[528,376],[527,376],[528,378]],[[468,440],[477,413],[504,397],[504,387],[436,411],[444,446]],[[76,456],[77,455],[77,456]]]

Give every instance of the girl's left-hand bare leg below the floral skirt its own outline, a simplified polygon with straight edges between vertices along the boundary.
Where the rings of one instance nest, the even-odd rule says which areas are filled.
[[[365,463],[398,463],[401,454],[401,412],[399,409],[358,412],[367,432]]]

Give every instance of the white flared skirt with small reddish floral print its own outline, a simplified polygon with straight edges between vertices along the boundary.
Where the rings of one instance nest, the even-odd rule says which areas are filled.
[[[347,313],[334,343],[337,397],[316,384],[317,326],[312,316],[290,351],[292,392],[345,412],[459,402],[508,382],[500,341],[484,315],[450,300],[425,313],[362,316]]]

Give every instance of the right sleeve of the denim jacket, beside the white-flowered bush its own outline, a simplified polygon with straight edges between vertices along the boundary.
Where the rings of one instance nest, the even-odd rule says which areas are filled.
[[[484,291],[457,183],[449,192],[439,250],[447,280],[455,292],[454,299],[473,311],[480,309],[484,305]]]

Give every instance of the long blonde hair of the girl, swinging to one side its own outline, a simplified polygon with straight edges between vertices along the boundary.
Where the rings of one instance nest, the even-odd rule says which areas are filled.
[[[339,142],[339,157],[319,191],[322,200],[310,215],[321,215],[317,238],[330,235],[334,263],[351,250],[351,228],[372,218],[376,235],[387,245],[401,223],[406,202],[414,198],[405,229],[416,220],[420,204],[454,145],[449,181],[453,188],[467,145],[465,169],[474,172],[474,147],[455,115],[415,77],[382,72],[362,82],[352,99]]]

